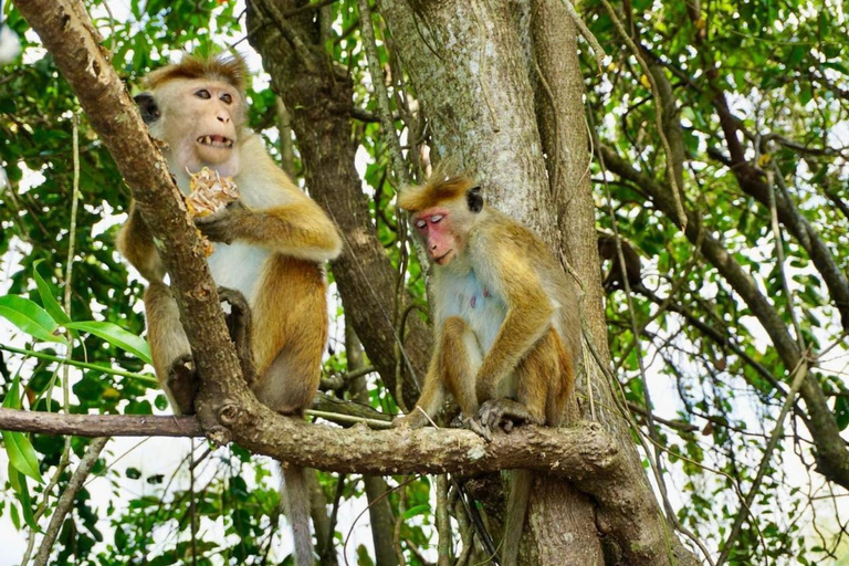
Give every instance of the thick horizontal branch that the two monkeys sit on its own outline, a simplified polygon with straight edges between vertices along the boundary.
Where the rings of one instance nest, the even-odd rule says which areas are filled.
[[[455,473],[530,469],[574,482],[605,516],[628,524],[646,512],[641,481],[598,424],[523,427],[491,443],[467,430],[338,429],[281,417],[250,400],[238,411],[233,439],[254,453],[325,471],[364,474]],[[108,426],[108,431],[105,428]],[[77,436],[200,436],[192,417],[70,416],[0,409],[0,429]],[[615,533],[614,533],[615,534]]]

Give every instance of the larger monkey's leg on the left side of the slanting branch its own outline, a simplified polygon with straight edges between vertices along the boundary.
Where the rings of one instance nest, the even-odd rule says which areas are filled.
[[[159,281],[150,282],[144,300],[147,342],[156,377],[174,412],[192,415],[199,382],[177,302],[168,285]]]

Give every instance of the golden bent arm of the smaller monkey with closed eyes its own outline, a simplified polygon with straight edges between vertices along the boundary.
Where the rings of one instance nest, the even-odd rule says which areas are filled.
[[[475,378],[479,402],[496,397],[510,375],[552,324],[555,306],[532,265],[528,253],[511,242],[490,247],[490,262],[475,271],[506,303],[507,314]]]

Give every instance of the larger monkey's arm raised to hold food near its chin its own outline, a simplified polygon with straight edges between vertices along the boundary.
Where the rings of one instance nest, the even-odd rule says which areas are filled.
[[[342,240],[324,211],[306,198],[283,206],[252,210],[239,202],[224,211],[196,218],[200,231],[213,242],[247,241],[293,258],[318,263],[342,251]]]

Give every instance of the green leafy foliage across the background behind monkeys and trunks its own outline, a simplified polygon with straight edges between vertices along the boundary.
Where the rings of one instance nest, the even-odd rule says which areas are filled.
[[[815,228],[846,275],[849,69],[845,39],[849,30],[845,8],[829,1],[827,9],[816,10],[809,2],[797,1],[704,4],[702,12],[693,14],[686,2],[633,0],[623,3],[630,12],[620,17],[642,45],[642,56],[672,88],[680,112],[688,208],[755,280],[788,328],[796,324],[795,314],[806,345],[822,352],[838,343],[834,357],[817,367],[816,377],[838,427],[846,431],[846,346],[840,343],[845,336],[834,300],[800,242],[786,228],[776,241],[768,208],[742,188],[727,164],[729,140],[716,105],[722,94],[746,144],[745,159],[762,172],[772,171],[777,190]],[[210,50],[229,44],[247,51],[241,43],[243,13],[237,2],[130,0],[125,13],[115,14],[101,0],[87,2],[87,8],[128,85],[136,85],[182,48]],[[588,0],[581,9],[612,57],[607,72],[597,76],[590,71],[595,63],[589,53],[583,53],[589,115],[599,142],[662,185],[668,178],[667,156],[654,128],[657,108],[649,81],[600,3]],[[355,2],[334,2],[327,10],[334,21],[327,53],[350,73],[355,106],[374,115],[377,105]],[[73,187],[70,118],[80,111],[52,57],[41,50],[17,10],[6,6],[3,17],[24,46],[21,57],[0,69],[0,166],[10,181],[10,187],[0,189],[0,254],[8,273],[0,286],[6,293],[0,297],[3,406],[57,411],[62,360],[74,360],[85,365],[74,365],[70,374],[72,412],[164,411],[167,402],[149,374],[144,374],[149,371],[149,354],[138,340],[144,331],[143,282],[128,273],[114,249],[117,227],[126,218],[128,190],[83,116],[76,252],[73,280],[64,281]],[[394,76],[403,76],[379,25],[377,32],[381,64]],[[248,93],[249,119],[280,157],[279,144],[291,140],[279,139],[275,96],[264,84],[262,77]],[[395,84],[390,90],[392,109],[400,114],[399,99],[415,92],[399,93]],[[423,122],[396,124],[407,136],[426,136]],[[352,137],[364,155],[361,172],[371,221],[398,266],[403,260],[398,251],[402,226],[390,205],[396,187],[390,185],[389,156],[379,126],[375,120],[353,122]],[[296,154],[293,166],[303,172]],[[598,180],[605,171],[598,161],[594,167]],[[644,407],[639,363],[646,361],[654,410],[665,420],[658,436],[663,461],[683,502],[678,518],[716,549],[741,512],[738,493],[748,490],[757,473],[793,368],[785,367],[734,286],[652,203],[646,187],[621,176],[608,174],[608,178],[611,182],[595,186],[599,228],[610,232],[616,224],[638,250],[649,290],[633,293],[632,308],[622,291],[607,303],[617,375],[628,400]],[[777,260],[779,247],[783,265]],[[783,274],[790,296],[784,291]],[[415,254],[409,258],[407,284],[423,303],[424,274]],[[70,312],[56,300],[66,285],[72,290]],[[339,307],[335,313],[339,335],[343,316]],[[632,316],[641,328],[639,336],[633,335]],[[69,334],[57,334],[59,329]],[[333,336],[331,349],[326,375],[344,375],[349,369],[344,339]],[[385,412],[397,411],[394,392],[378,379],[369,377],[364,389],[365,395],[345,389],[335,395]],[[846,517],[819,503],[834,504],[845,493],[829,495],[834,486],[808,474],[814,468],[811,443],[797,424],[787,427],[786,441],[766,462],[766,482],[755,500],[757,521],[744,525],[730,556],[733,564],[821,564],[829,557],[846,563],[840,558],[847,548]],[[71,450],[78,457],[86,444],[74,439]],[[65,444],[42,434],[3,432],[3,446],[10,468],[8,488],[0,492],[0,516],[8,516],[18,530],[35,532],[43,524],[40,507],[54,505],[55,494],[67,484],[70,471],[60,467]],[[174,469],[153,472],[124,465],[117,454],[104,455],[94,475],[98,485],[111,486],[106,503],[95,503],[87,488],[78,493],[54,563],[165,565],[189,562],[191,556],[198,557],[197,564],[264,563],[281,537],[279,495],[269,462],[252,459],[239,447],[200,449],[206,447],[188,451]],[[41,481],[42,475],[57,481],[52,493],[31,481]],[[392,485],[401,482],[390,480]],[[317,491],[333,507],[348,505],[357,513],[365,507],[359,478],[322,473]],[[395,515],[403,518],[398,538],[408,564],[422,564],[422,552],[432,556],[428,554],[436,538],[431,493],[427,479],[415,479],[387,497]],[[828,530],[819,528],[822,514],[828,514]],[[333,526],[334,544],[342,548],[348,532]],[[271,555],[286,564],[285,557]],[[356,556],[358,564],[374,564],[363,541],[347,555]]]

